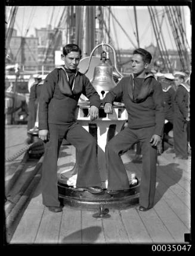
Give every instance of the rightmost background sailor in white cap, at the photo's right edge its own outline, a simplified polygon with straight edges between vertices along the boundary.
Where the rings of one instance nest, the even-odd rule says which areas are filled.
[[[190,121],[190,86],[185,83],[185,73],[175,72],[177,91],[174,102],[174,149],[175,157],[188,159],[187,122]]]

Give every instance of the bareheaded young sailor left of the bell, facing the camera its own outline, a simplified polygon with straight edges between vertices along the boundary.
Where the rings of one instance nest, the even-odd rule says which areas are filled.
[[[39,138],[45,142],[42,163],[42,199],[49,211],[60,212],[58,200],[57,160],[63,138],[77,150],[78,178],[76,187],[90,193],[101,193],[95,138],[75,117],[81,93],[88,97],[91,121],[98,117],[100,96],[89,79],[78,71],[81,48],[76,44],[63,47],[64,65],[51,71],[39,100]]]

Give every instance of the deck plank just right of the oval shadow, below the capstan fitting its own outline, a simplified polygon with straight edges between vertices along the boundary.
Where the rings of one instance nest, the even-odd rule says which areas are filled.
[[[110,218],[103,218],[106,243],[130,243],[119,211],[110,211]]]

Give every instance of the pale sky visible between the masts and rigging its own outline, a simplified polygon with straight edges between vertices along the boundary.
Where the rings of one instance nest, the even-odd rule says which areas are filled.
[[[10,7],[6,7],[6,19],[8,19],[8,12],[10,10]],[[157,12],[159,14],[159,20],[161,20],[163,8],[157,6]],[[190,25],[190,9],[187,6],[181,7],[183,10],[185,17],[185,30],[187,33],[187,39],[188,44],[191,47],[191,25]],[[108,12],[108,7],[104,7],[105,14]],[[135,17],[134,17],[134,9],[130,6],[118,6],[113,7],[112,6],[112,13],[122,26],[122,28],[125,30],[126,33],[128,33],[131,40],[128,39],[128,36],[125,35],[125,33],[122,31],[119,25],[117,25],[116,22],[113,22],[112,19],[110,20],[110,32],[112,36],[112,40],[115,45],[113,45],[115,48],[118,48],[117,45],[119,45],[119,48],[122,49],[130,49],[134,48],[134,45],[137,45],[137,39],[135,37]],[[138,34],[140,39],[140,47],[144,48],[153,43],[156,45],[156,39],[153,32],[153,26],[150,20],[150,14],[148,12],[147,7],[136,7],[137,10],[137,21],[138,21]],[[63,7],[57,7],[57,6],[26,6],[26,7],[18,7],[17,16],[16,16],[16,22],[14,28],[17,29],[17,35],[22,36],[35,36],[35,28],[44,28],[49,23],[51,23],[52,28],[56,27],[61,13],[63,11]],[[53,12],[53,16],[52,16]],[[108,17],[108,15],[107,15]],[[166,16],[165,16],[166,17]],[[8,21],[8,20],[7,20]],[[9,24],[9,23],[8,23]],[[166,48],[167,49],[174,49],[176,50],[176,45],[174,42],[174,38],[172,36],[172,31],[169,26],[168,19],[163,20],[162,25],[162,34],[163,38],[166,42]],[[134,43],[134,45],[132,44]],[[108,42],[106,42],[108,43]]]

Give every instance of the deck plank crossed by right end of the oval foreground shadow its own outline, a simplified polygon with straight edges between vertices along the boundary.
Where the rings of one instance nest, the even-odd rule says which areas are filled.
[[[82,243],[106,243],[103,223],[94,218],[94,211],[82,211]]]

